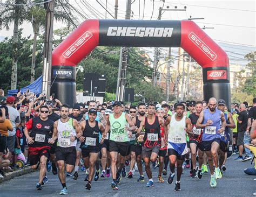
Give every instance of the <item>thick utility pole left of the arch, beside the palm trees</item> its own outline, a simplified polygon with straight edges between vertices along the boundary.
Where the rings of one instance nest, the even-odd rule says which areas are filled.
[[[49,99],[51,94],[51,55],[53,37],[53,4],[54,0],[45,3],[46,8],[46,31],[44,43],[44,66],[43,66],[43,87],[46,97]]]

